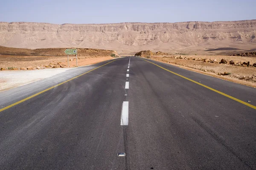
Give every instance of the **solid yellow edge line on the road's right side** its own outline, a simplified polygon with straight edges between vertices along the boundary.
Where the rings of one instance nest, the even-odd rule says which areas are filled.
[[[150,62],[150,61],[145,60],[145,59],[143,59],[143,60],[144,60],[144,61],[147,61],[147,62]],[[155,64],[155,63],[153,63],[153,62],[150,62],[150,63],[151,63],[151,64],[154,64],[154,65],[156,65],[156,66],[158,66],[158,67],[160,67],[160,68],[162,68],[162,69],[164,69],[164,70],[166,70],[166,71],[169,71],[169,70],[167,70],[166,68],[163,68],[163,67],[161,67],[160,65],[157,65],[157,64]],[[191,81],[191,82],[194,82],[194,83],[196,83],[196,84],[198,84],[198,85],[201,85],[201,86],[203,86],[203,87],[205,87],[205,88],[208,88],[208,89],[211,90],[211,91],[215,91],[216,93],[221,94],[221,95],[223,95],[223,96],[226,96],[226,97],[228,97],[228,98],[230,98],[230,99],[233,99],[233,100],[235,100],[235,101],[237,101],[237,102],[239,102],[239,103],[241,103],[241,104],[247,105],[247,106],[249,106],[250,108],[256,109],[256,106],[250,105],[250,104],[247,103],[247,102],[244,102],[244,101],[241,101],[241,100],[239,100],[239,99],[236,99],[236,98],[233,97],[233,96],[230,96],[230,95],[228,95],[228,94],[224,94],[224,93],[222,93],[222,92],[220,92],[220,91],[215,90],[214,88],[210,88],[210,87],[208,87],[207,85],[203,85],[203,84],[201,84],[201,83],[199,83],[199,82],[196,82],[196,81],[194,81],[194,80],[192,80],[192,79],[189,79],[189,78],[187,78],[187,77],[181,76],[180,74],[177,74],[177,73],[175,73],[175,72],[173,72],[173,71],[169,71],[169,72],[172,73],[172,74],[175,74],[175,75],[177,75],[177,76],[179,76],[179,77],[182,77],[182,78],[184,78],[184,79],[187,79],[187,80],[189,80],[189,81]]]

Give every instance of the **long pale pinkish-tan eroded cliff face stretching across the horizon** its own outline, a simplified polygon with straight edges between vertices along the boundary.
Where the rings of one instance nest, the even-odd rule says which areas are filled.
[[[229,40],[256,43],[256,20],[232,22],[49,24],[0,23],[0,45],[15,48],[172,48]],[[180,43],[179,43],[180,42]],[[184,45],[182,45],[184,44]],[[214,43],[213,43],[214,44]]]

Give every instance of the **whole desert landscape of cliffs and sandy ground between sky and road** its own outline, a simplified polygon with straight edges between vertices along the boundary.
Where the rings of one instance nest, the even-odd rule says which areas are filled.
[[[67,68],[139,56],[256,87],[256,20],[49,24],[0,22],[0,70]],[[224,59],[225,61],[222,61]],[[75,56],[69,57],[76,67]]]

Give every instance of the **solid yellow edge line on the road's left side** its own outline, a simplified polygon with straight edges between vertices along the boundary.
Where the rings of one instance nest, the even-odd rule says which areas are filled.
[[[116,61],[116,60],[117,60],[117,59],[115,59],[115,60],[113,60],[113,61],[111,61],[111,62],[114,62],[114,61]],[[104,64],[104,65],[107,65],[107,64],[109,64],[109,63],[111,63],[111,62],[108,62],[108,63],[106,63],[106,64]],[[89,72],[91,72],[91,71],[93,71],[93,70],[96,70],[97,68],[100,68],[100,67],[102,67],[102,66],[104,66],[104,65],[101,65],[101,66],[99,66],[99,67],[93,68],[92,70],[87,71],[86,73],[80,74],[79,76],[73,77],[72,79],[68,79],[67,81],[61,82],[61,83],[58,84],[58,85],[52,86],[52,87],[50,87],[50,88],[47,88],[47,89],[45,89],[45,90],[43,90],[43,91],[38,92],[37,94],[33,94],[32,96],[29,96],[29,97],[27,97],[27,98],[25,98],[25,99],[22,99],[22,100],[20,100],[20,101],[18,101],[18,102],[15,102],[15,103],[13,103],[12,105],[6,106],[6,107],[0,109],[0,112],[1,112],[1,111],[4,111],[4,110],[6,110],[6,109],[9,109],[9,108],[11,108],[12,106],[18,105],[18,104],[20,104],[20,103],[22,103],[22,102],[25,102],[26,100],[31,99],[31,98],[33,98],[33,97],[35,97],[35,96],[38,96],[39,94],[42,94],[42,93],[44,93],[44,92],[46,92],[46,91],[49,91],[49,90],[51,90],[52,88],[58,87],[59,85],[63,85],[63,84],[66,83],[66,82],[69,82],[69,81],[71,81],[71,80],[73,80],[73,79],[76,79],[76,78],[78,78],[78,77],[80,77],[80,76],[82,76],[82,75],[84,75],[84,74],[87,74],[87,73],[89,73]]]

